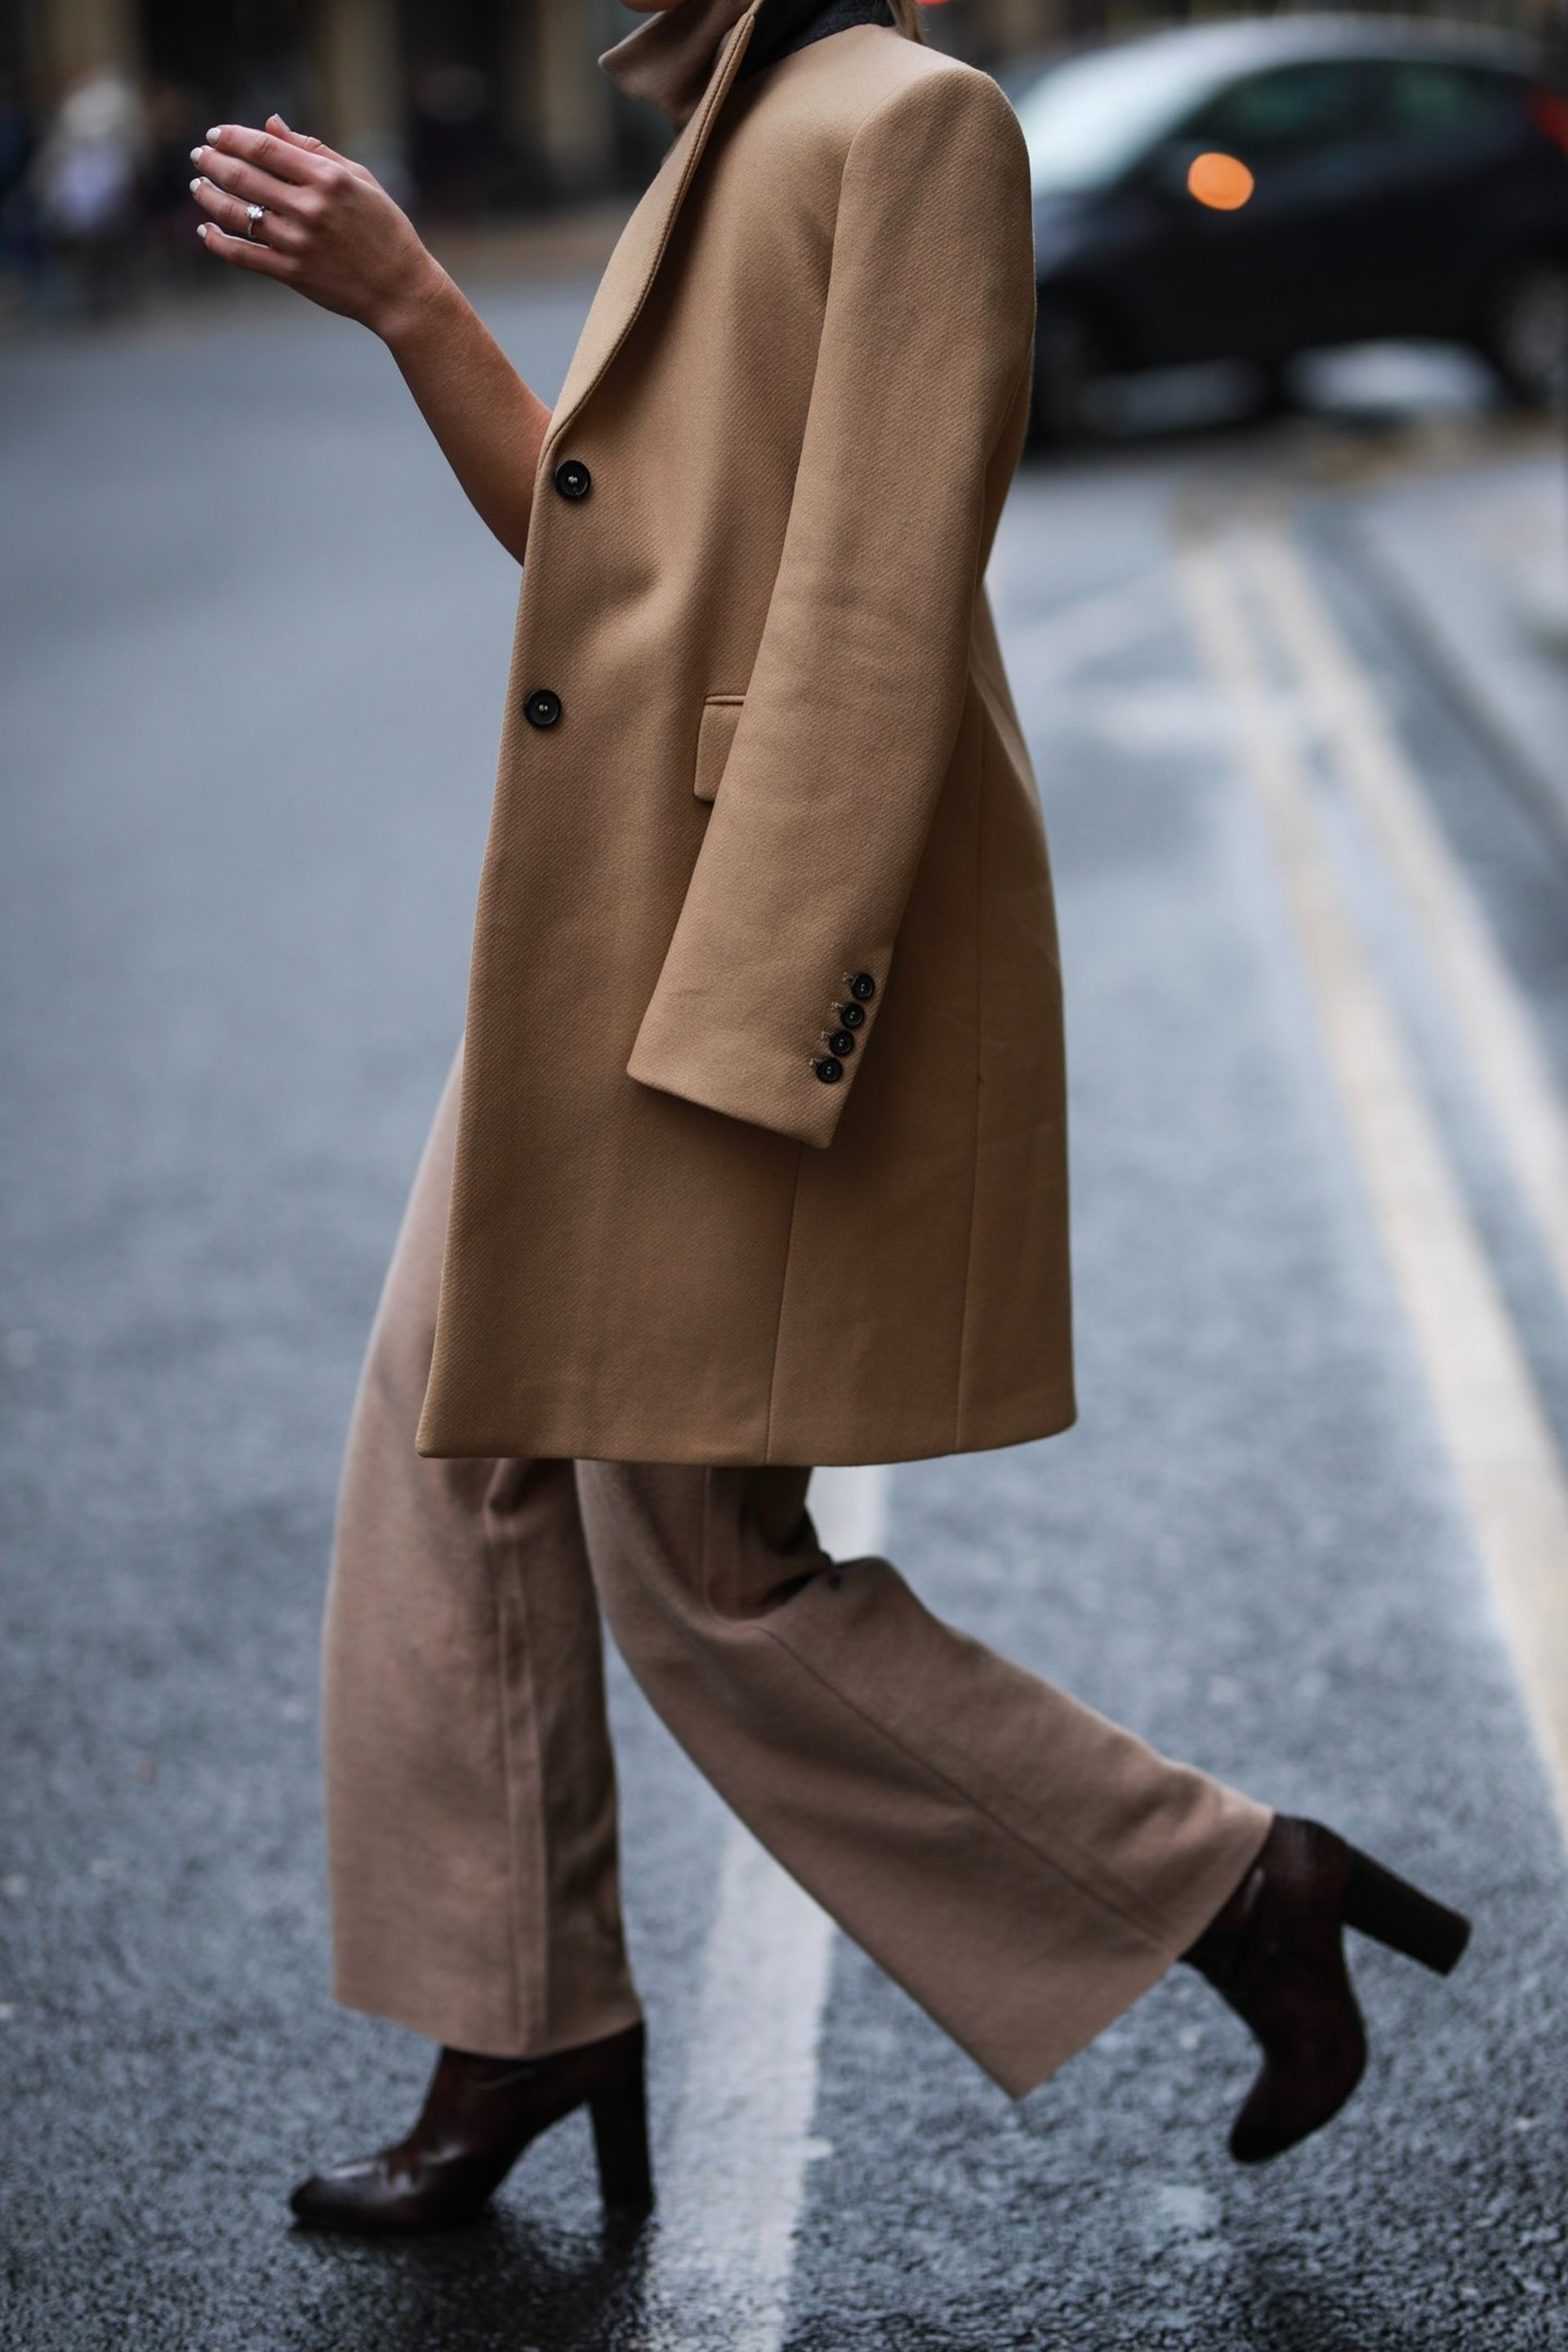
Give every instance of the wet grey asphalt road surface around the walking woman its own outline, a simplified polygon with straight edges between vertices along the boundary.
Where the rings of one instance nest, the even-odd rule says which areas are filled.
[[[489,299],[545,390],[583,301]],[[832,1508],[1472,1910],[1472,1959],[1359,1955],[1366,2089],[1260,2173],[1182,1971],[1011,2107],[616,1668],[665,2234],[602,2239],[574,2119],[484,2225],[357,2246],[287,2190],[428,2051],[327,1994],[315,1637],[515,572],[383,355],[287,299],[0,360],[7,2352],[1568,2343],[1568,858],[1363,560],[1389,482],[1514,447],[1422,386],[1418,426],[1354,395],[1025,470],[992,583],[1060,870],[1081,1425]]]

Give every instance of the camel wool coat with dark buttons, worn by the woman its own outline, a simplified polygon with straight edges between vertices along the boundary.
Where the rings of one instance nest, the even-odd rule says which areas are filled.
[[[997,85],[882,26],[632,214],[538,463],[418,1451],[856,1463],[1072,1421],[1051,873],[983,572]]]

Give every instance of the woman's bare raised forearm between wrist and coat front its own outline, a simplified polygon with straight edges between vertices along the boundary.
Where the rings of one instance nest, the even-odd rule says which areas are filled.
[[[550,409],[440,263],[407,303],[374,325],[475,513],[522,562]]]

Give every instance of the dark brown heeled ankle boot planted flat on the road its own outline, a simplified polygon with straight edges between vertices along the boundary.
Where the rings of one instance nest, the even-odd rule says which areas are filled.
[[[444,2049],[407,2140],[313,2173],[289,2204],[310,2230],[451,2230],[475,2220],[541,2131],[583,2105],[604,2211],[637,2220],[654,2206],[642,2025],[548,2058]]]

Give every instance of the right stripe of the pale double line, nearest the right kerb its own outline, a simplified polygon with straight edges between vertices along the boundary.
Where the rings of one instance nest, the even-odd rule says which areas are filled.
[[[1246,534],[1253,579],[1321,717],[1335,769],[1406,891],[1568,1301],[1568,1105],[1469,882],[1333,614],[1279,529]]]

